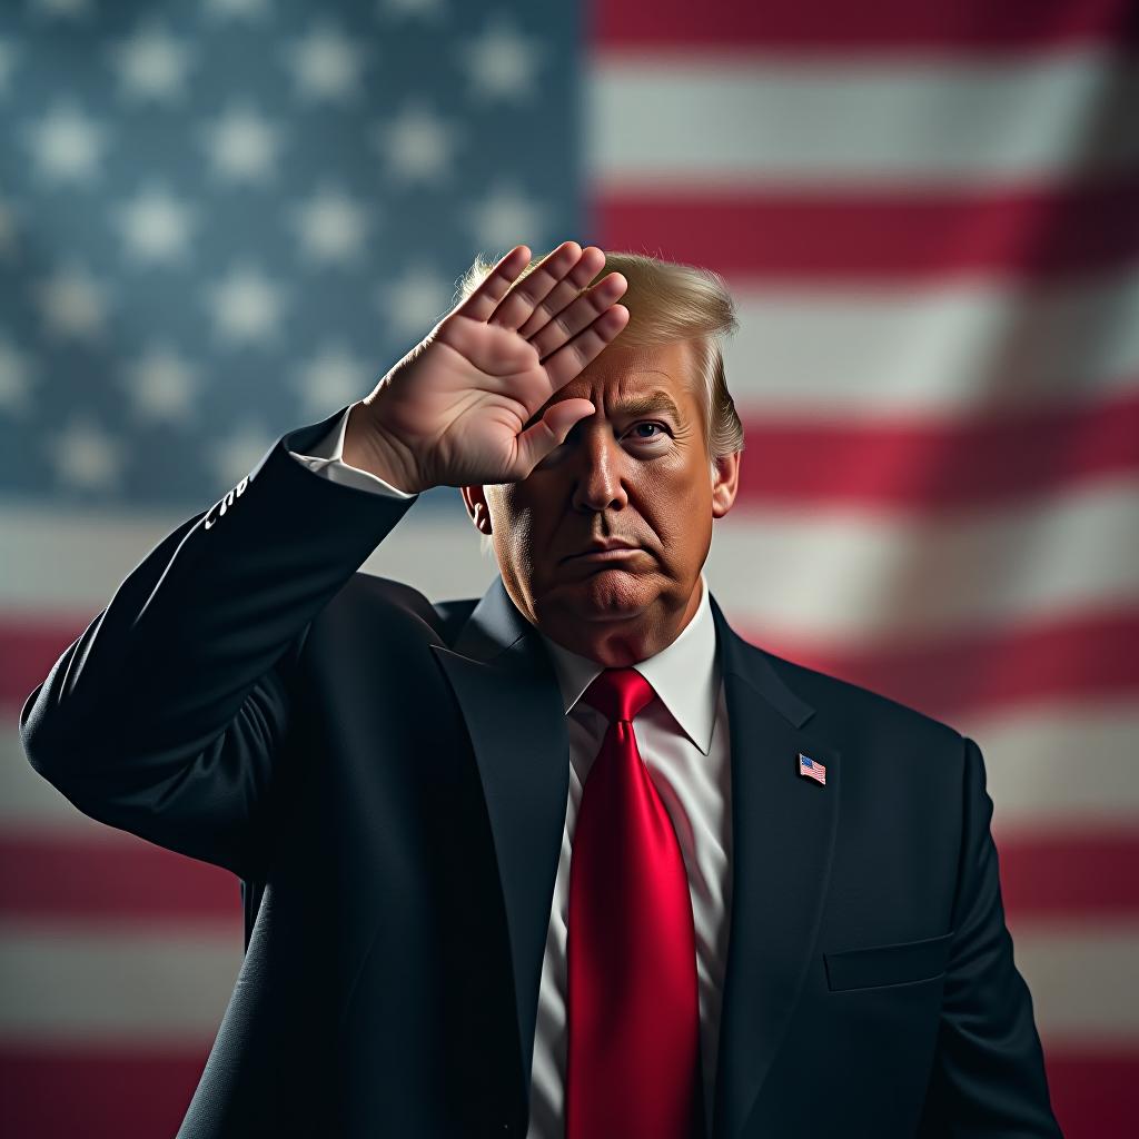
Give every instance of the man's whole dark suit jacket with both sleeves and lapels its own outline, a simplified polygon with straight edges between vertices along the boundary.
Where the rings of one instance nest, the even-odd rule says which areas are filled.
[[[500,577],[433,605],[358,572],[412,500],[287,453],[343,410],[150,550],[28,696],[24,747],[84,813],[241,879],[245,960],[180,1136],[522,1137],[558,686]],[[734,833],[714,1139],[1058,1136],[977,745],[711,607]]]

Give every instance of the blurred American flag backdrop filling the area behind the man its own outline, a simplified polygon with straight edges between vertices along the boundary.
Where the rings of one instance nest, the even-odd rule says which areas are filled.
[[[0,6],[6,1134],[173,1134],[241,956],[237,880],[79,814],[24,699],[476,253],[567,238],[727,278],[715,597],[980,743],[1057,1114],[1134,1134],[1137,7]],[[449,487],[363,568],[495,573]]]

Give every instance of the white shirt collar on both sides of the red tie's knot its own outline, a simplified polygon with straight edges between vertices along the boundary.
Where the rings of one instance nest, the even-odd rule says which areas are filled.
[[[536,625],[535,625],[536,628]],[[593,682],[601,665],[589,657],[572,653],[542,632],[562,689],[566,713]],[[638,661],[633,667],[653,686],[662,703],[672,713],[685,735],[705,754],[712,747],[719,686],[716,677],[715,622],[708,604],[708,585],[700,571],[700,603],[691,621],[671,645],[659,653]]]

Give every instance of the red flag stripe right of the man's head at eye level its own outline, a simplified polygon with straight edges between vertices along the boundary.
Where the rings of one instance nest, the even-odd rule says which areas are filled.
[[[956,421],[745,413],[744,432],[738,505],[858,503],[928,514],[1139,470],[1139,390],[1087,405]]]

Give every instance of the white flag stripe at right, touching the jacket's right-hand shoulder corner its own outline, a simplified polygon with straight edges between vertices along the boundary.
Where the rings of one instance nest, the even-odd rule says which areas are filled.
[[[984,755],[998,841],[1087,834],[1139,818],[1134,697],[1052,700],[954,727]]]

